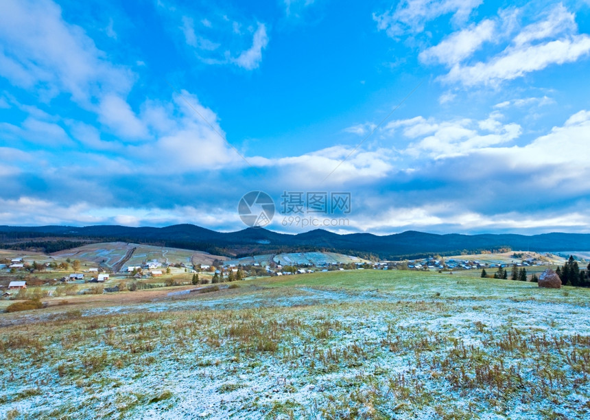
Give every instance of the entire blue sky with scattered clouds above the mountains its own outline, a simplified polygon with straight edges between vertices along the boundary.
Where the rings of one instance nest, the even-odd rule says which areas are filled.
[[[590,232],[589,0],[349,3],[2,1],[0,224]]]

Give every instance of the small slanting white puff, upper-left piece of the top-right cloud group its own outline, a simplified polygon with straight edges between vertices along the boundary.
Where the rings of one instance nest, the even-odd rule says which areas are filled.
[[[482,44],[495,35],[495,22],[485,20],[478,25],[455,32],[434,47],[425,49],[418,58],[422,62],[440,62],[452,66],[470,57]]]

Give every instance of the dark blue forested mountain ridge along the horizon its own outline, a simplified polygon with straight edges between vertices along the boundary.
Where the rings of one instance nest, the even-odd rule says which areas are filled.
[[[462,251],[482,250],[574,251],[590,250],[588,233],[543,233],[541,235],[482,234],[438,235],[405,231],[378,236],[372,233],[340,235],[323,229],[305,233],[276,233],[262,228],[236,232],[217,232],[193,224],[176,224],[161,228],[98,226],[0,226],[0,246],[18,246],[37,242],[71,240],[88,242],[138,242],[178,248],[207,250],[219,255],[250,255],[253,253],[303,252],[331,250],[352,255],[374,255],[384,259],[451,255]],[[54,239],[51,239],[54,238]],[[16,245],[15,245],[16,244]],[[23,245],[24,246],[24,245]]]

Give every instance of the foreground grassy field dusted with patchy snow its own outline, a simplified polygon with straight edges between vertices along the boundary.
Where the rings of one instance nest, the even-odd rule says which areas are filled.
[[[0,314],[0,417],[590,416],[590,290],[397,270],[234,285]]]

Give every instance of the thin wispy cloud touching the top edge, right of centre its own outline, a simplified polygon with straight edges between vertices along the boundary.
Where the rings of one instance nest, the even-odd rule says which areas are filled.
[[[395,10],[373,14],[379,30],[392,38],[422,32],[429,21],[452,13],[455,23],[462,23],[483,0],[403,0]]]

